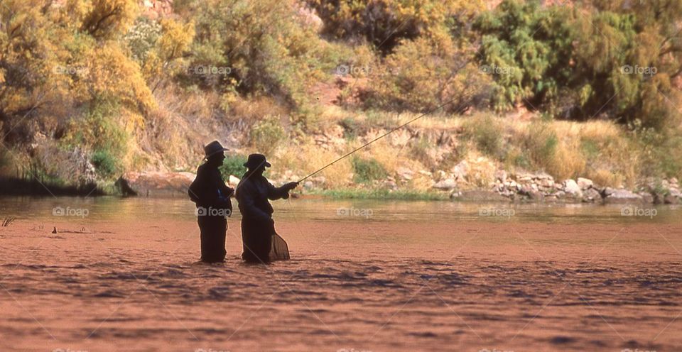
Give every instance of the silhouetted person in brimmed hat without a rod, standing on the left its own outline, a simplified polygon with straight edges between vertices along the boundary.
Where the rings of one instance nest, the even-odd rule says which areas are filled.
[[[223,148],[218,141],[204,147],[206,162],[197,169],[197,178],[190,185],[190,199],[197,206],[197,222],[201,231],[201,260],[207,263],[222,262],[225,259],[225,232],[227,219],[232,214],[229,199],[234,189],[227,187],[218,167],[225,159]]]

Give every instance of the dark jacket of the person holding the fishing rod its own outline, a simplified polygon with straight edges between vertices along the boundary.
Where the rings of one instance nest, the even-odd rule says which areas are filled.
[[[288,198],[289,193],[283,187],[274,187],[264,176],[244,174],[237,185],[237,201],[239,211],[245,220],[270,222],[273,209],[268,202],[280,198]]]

